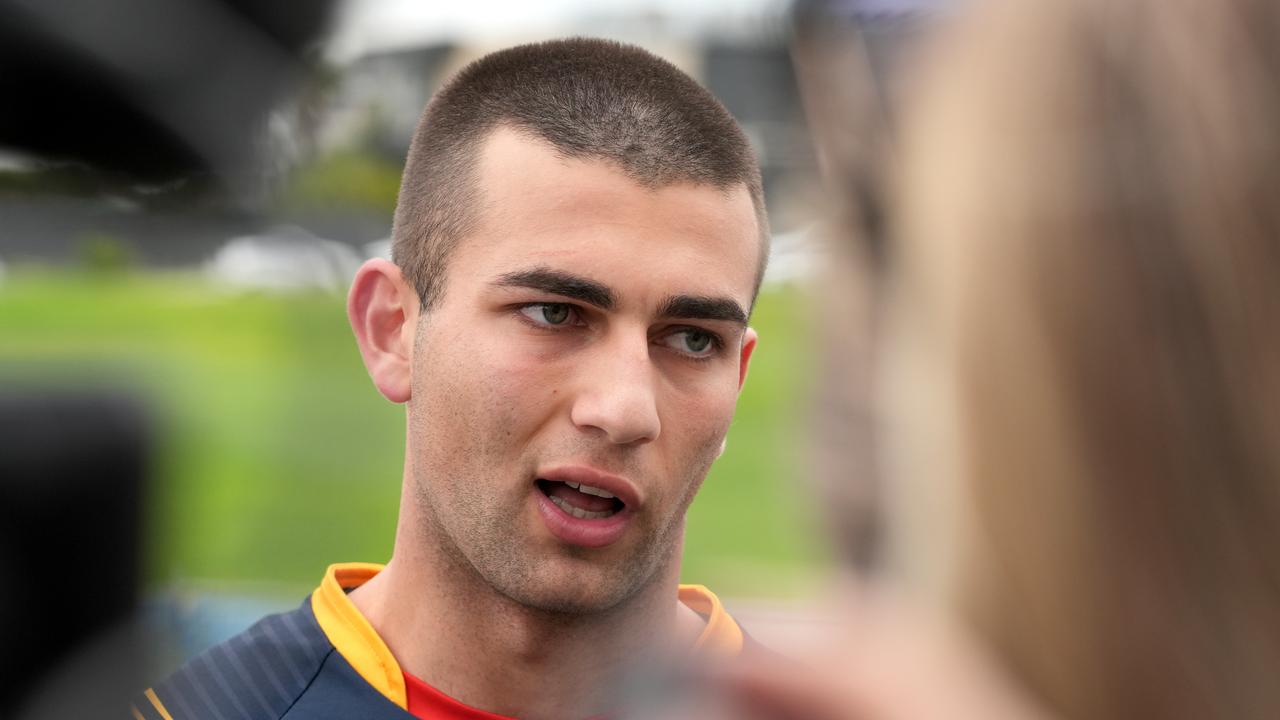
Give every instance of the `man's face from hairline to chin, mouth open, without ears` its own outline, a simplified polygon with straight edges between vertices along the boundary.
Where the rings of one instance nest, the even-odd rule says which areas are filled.
[[[479,179],[413,347],[424,539],[522,605],[603,611],[677,561],[722,448],[755,345],[751,200],[508,129]]]

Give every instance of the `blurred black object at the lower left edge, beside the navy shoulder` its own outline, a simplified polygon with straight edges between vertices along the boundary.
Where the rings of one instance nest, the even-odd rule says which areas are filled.
[[[122,397],[0,395],[0,717],[118,715],[141,687],[146,437]]]

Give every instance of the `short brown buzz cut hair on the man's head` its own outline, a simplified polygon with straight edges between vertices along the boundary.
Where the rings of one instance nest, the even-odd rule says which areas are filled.
[[[484,140],[509,127],[567,158],[600,159],[649,188],[745,184],[759,228],[753,304],[769,252],[760,170],[742,129],[703,86],[631,45],[571,38],[520,45],[458,72],[422,113],[404,165],[392,258],[422,309],[481,206]]]

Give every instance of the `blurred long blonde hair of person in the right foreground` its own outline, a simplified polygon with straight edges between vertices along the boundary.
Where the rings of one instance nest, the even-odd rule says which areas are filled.
[[[1280,716],[1280,4],[956,29],[893,215],[897,557],[1066,717]]]

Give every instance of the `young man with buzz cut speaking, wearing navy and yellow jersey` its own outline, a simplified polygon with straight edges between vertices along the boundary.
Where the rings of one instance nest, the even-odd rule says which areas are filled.
[[[737,653],[678,585],[685,511],[755,348],[768,228],[741,131],[636,47],[463,69],[428,106],[348,314],[406,405],[385,568],[337,565],[138,717],[589,717],[637,657]]]

